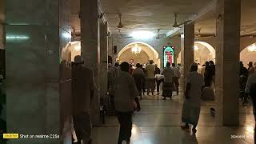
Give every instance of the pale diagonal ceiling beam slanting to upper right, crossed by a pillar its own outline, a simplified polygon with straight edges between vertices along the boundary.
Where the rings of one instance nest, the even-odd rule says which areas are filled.
[[[216,7],[218,0],[211,1],[207,6],[204,6],[201,10],[198,11],[198,14],[194,14],[189,20],[191,22],[197,21],[199,18],[201,18],[203,15],[207,14],[210,10],[213,10]],[[189,22],[190,23],[190,22]],[[172,37],[176,34],[179,34],[179,31],[182,28],[174,28],[173,30],[170,30],[166,33],[166,37]]]

